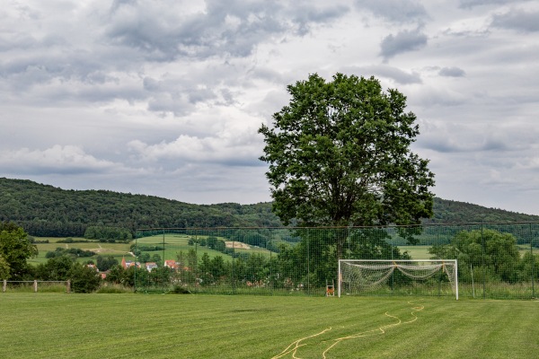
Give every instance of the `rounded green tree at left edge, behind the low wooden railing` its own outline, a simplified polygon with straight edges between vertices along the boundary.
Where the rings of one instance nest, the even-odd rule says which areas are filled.
[[[29,273],[26,259],[38,255],[28,234],[15,223],[0,222],[0,265],[4,278],[23,279]]]

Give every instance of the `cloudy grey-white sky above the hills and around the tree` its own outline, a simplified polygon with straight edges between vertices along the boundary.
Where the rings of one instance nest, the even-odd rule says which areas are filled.
[[[407,96],[437,197],[539,215],[526,0],[3,0],[0,177],[267,202],[258,128],[314,73]]]

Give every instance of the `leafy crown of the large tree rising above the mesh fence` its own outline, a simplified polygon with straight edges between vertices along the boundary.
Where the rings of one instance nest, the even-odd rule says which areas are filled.
[[[299,225],[413,224],[432,215],[434,174],[411,152],[420,134],[406,97],[376,78],[318,74],[287,87],[262,125],[273,210]],[[336,239],[340,257],[344,238]]]

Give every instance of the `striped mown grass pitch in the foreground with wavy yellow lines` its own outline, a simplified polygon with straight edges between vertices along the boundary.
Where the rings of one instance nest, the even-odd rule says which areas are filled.
[[[0,293],[5,358],[536,358],[539,302]]]

